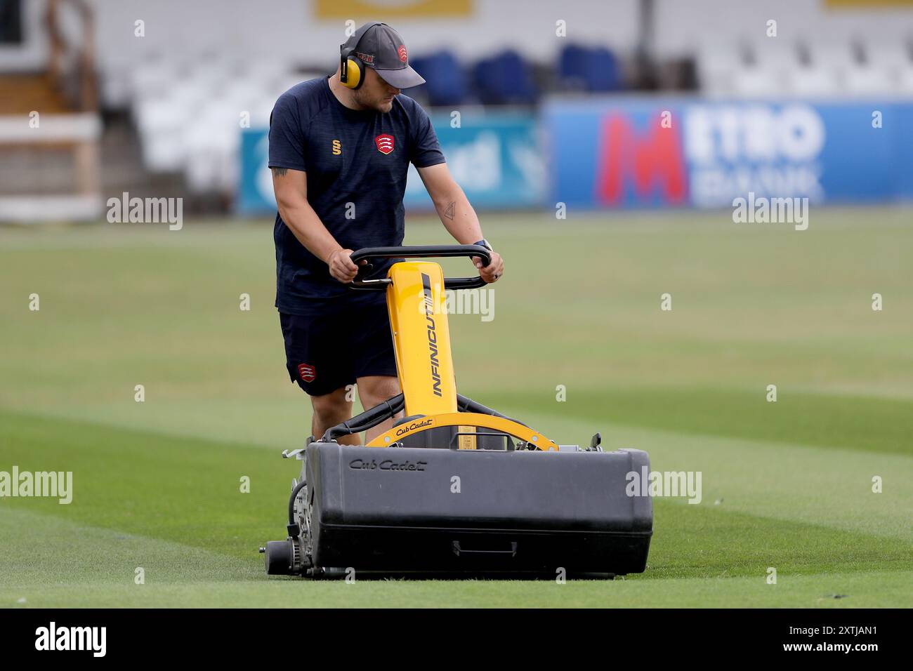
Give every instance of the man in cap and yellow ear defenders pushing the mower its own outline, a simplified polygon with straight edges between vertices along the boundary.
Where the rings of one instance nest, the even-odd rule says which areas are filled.
[[[276,307],[289,376],[310,395],[318,438],[352,417],[352,384],[365,409],[400,393],[385,294],[345,284],[359,269],[354,249],[403,244],[410,162],[456,242],[490,249],[428,115],[400,93],[423,83],[402,37],[386,24],[365,24],[341,46],[336,74],[292,87],[270,118]],[[498,254],[487,267],[474,261],[487,282],[504,272]],[[375,263],[369,277],[383,278],[391,264]],[[367,431],[365,442],[392,425]],[[358,435],[340,442],[358,445]]]

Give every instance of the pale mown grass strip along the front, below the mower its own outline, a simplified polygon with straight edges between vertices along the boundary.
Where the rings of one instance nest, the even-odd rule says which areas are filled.
[[[736,520],[740,523],[742,520]],[[27,530],[26,530],[27,529]],[[715,529],[724,531],[726,529]],[[796,529],[800,530],[800,529]],[[24,537],[27,535],[27,541]],[[739,539],[733,539],[739,540]],[[0,516],[0,608],[122,607],[800,607],[913,605],[911,571],[792,572],[632,580],[267,579],[261,564],[26,510]],[[693,548],[686,542],[682,556]],[[671,548],[670,548],[671,550]],[[143,584],[134,582],[144,569]],[[834,598],[839,595],[840,598]]]

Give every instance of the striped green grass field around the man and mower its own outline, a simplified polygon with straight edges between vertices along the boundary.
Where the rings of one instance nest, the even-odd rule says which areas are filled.
[[[72,471],[75,490],[0,498],[0,606],[909,607],[911,218],[483,216],[507,271],[493,320],[450,317],[461,393],[702,473],[699,504],[656,498],[644,574],[566,584],[268,579],[257,546],[283,536],[299,468],[279,453],[310,427],[271,226],[0,229],[0,471]]]

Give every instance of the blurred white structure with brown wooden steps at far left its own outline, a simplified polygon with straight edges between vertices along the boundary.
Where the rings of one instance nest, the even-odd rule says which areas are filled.
[[[35,7],[0,0],[5,49],[24,44]],[[93,10],[84,0],[47,0],[43,9],[47,59],[0,72],[0,220],[94,219],[101,120]]]

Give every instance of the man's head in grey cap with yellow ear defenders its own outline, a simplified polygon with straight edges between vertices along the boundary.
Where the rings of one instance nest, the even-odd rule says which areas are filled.
[[[340,81],[364,109],[390,111],[402,89],[424,84],[409,66],[403,38],[392,27],[367,23],[340,46]]]

